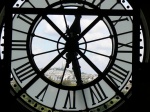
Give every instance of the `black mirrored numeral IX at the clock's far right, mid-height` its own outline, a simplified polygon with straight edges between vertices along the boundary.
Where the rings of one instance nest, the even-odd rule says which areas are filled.
[[[118,52],[119,53],[132,53],[132,43],[133,42],[128,42],[126,44],[118,43]],[[126,48],[126,50],[120,50],[120,48]]]

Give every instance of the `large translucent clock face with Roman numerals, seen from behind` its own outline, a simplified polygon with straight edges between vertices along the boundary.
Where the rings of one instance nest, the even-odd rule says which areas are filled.
[[[127,1],[18,0],[13,8],[19,13],[12,20],[11,93],[25,107],[104,112],[128,99],[133,9]]]

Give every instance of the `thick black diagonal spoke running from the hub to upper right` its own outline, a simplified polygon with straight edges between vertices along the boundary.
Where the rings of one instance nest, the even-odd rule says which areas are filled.
[[[98,16],[80,35],[78,40],[80,40],[88,31],[90,31],[100,20],[101,16]]]

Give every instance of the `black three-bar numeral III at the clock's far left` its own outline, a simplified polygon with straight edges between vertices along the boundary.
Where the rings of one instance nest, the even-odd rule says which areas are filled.
[[[12,50],[26,50],[26,41],[12,40]]]

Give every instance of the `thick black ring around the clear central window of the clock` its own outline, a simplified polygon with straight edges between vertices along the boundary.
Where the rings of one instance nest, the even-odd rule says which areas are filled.
[[[53,7],[55,7],[55,5],[60,5],[60,1],[54,4]],[[86,2],[85,2],[86,3]],[[85,5],[88,5],[89,3],[87,2],[87,4]],[[91,4],[90,4],[91,5]],[[96,6],[94,5],[91,5],[92,8],[96,8],[97,10],[100,10],[99,8],[97,8]],[[45,10],[47,10],[49,7],[47,7]],[[52,8],[52,6],[50,7]],[[32,49],[31,49],[31,44],[32,44],[32,33],[35,31],[36,27],[38,26],[39,22],[40,22],[40,19],[41,19],[42,15],[37,15],[36,18],[34,19],[29,31],[28,31],[28,36],[27,36],[27,43],[28,43],[28,46],[27,46],[27,54],[29,56],[29,60],[31,62],[31,65],[32,67],[34,67],[34,70],[37,72],[37,75],[41,75],[40,74],[40,70],[38,69],[34,59],[33,59],[33,56],[32,56]],[[81,90],[81,89],[85,89],[87,87],[89,87],[90,85],[93,85],[93,84],[96,84],[97,82],[101,81],[103,79],[103,77],[105,77],[107,75],[107,73],[109,72],[109,70],[111,69],[111,67],[113,66],[114,62],[115,62],[115,59],[116,59],[116,56],[117,56],[117,44],[118,43],[118,39],[117,39],[117,33],[116,33],[116,30],[111,22],[111,20],[109,19],[108,16],[103,16],[103,18],[106,19],[106,21],[108,22],[108,24],[110,25],[111,27],[111,30],[109,29],[108,27],[108,24],[106,24],[105,21],[103,21],[105,23],[105,25],[107,26],[108,30],[109,30],[109,33],[113,33],[113,37],[110,37],[111,38],[111,42],[112,42],[112,53],[110,56],[111,59],[109,59],[109,62],[107,64],[107,67],[105,68],[105,70],[102,72],[103,76],[100,76],[100,77],[97,77],[96,79],[94,79],[93,81],[87,83],[87,84],[83,84],[82,86],[63,86],[62,84],[57,84],[53,81],[50,81],[48,78],[46,78],[43,74],[40,76],[44,81],[46,81],[47,83],[49,83],[50,85],[56,87],[56,88],[60,88],[60,89],[64,89],[64,90]],[[38,22],[38,23],[37,23]],[[33,37],[32,37],[33,38]]]

